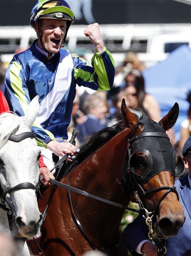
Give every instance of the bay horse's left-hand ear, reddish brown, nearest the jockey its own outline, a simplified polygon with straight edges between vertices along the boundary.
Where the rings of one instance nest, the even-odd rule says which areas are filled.
[[[135,117],[135,115],[127,108],[125,104],[125,99],[123,99],[121,103],[121,115],[123,122],[125,123],[125,127],[129,129],[131,129],[132,126],[135,125],[135,123],[138,123],[138,120]]]

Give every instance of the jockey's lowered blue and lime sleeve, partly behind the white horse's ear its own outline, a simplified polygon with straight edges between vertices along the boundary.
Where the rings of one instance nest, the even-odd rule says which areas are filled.
[[[26,115],[31,100],[23,66],[17,61],[9,64],[6,71],[5,86],[5,97],[10,110],[19,116]],[[44,130],[36,120],[33,123],[32,131],[36,134],[38,146],[46,148],[46,144],[54,139],[53,134]]]

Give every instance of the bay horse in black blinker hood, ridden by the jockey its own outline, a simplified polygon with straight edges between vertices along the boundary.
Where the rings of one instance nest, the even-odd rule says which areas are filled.
[[[153,225],[157,234],[160,237],[177,234],[185,221],[173,187],[175,166],[180,159],[165,131],[175,124],[178,113],[179,107],[175,103],[169,113],[156,123],[144,112],[138,118],[128,110],[123,99],[121,122],[92,136],[81,147],[73,163],[65,165],[61,182],[68,182],[87,193],[128,206],[130,200],[138,202],[133,193],[135,190],[131,190],[134,179],[144,208],[155,212]],[[154,155],[149,147],[147,149],[150,145]],[[133,154],[128,155],[127,152],[133,147]],[[155,173],[149,156],[152,157],[153,166],[156,161],[161,164]],[[128,173],[133,175],[128,176]],[[125,187],[122,187],[123,177],[127,181]],[[128,177],[134,178],[129,182]],[[43,192],[44,200],[38,200],[41,212],[46,207],[52,189],[53,185],[46,188]],[[145,194],[148,191],[151,193],[143,196],[143,191]],[[44,255],[80,256],[96,248],[102,248],[110,256],[123,255],[119,227],[124,211],[74,192],[68,191],[67,195],[65,189],[57,187],[42,227],[41,245]]]

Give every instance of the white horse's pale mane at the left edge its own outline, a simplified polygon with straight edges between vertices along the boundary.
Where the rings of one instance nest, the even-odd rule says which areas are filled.
[[[11,112],[0,114],[0,149],[6,144],[11,133],[20,125],[19,116],[13,115]]]

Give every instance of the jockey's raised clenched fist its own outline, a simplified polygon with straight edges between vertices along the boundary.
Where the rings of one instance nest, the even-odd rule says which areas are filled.
[[[101,38],[101,32],[98,23],[88,25],[88,27],[84,30],[84,35],[90,38],[98,53],[103,53],[104,44]]]

